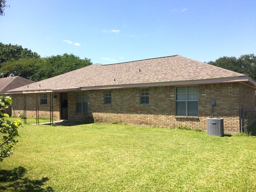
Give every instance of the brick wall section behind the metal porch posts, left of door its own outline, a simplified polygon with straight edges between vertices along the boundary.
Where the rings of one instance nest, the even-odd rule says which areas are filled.
[[[53,108],[54,108],[54,119],[59,120],[59,92],[55,92],[54,95],[57,98],[54,98]],[[12,103],[12,116],[18,116],[19,114],[23,115],[24,109],[24,94],[12,94],[11,98],[13,100]],[[39,103],[39,117],[50,118],[50,93],[47,93],[47,104],[40,104],[40,93],[38,94],[38,103]],[[35,106],[36,106],[36,98],[35,93],[26,94],[26,116],[27,117],[35,117]]]

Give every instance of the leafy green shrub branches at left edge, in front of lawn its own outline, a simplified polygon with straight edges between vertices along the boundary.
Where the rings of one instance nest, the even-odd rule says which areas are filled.
[[[3,113],[3,110],[8,108],[5,103],[11,105],[11,98],[0,96],[0,137],[2,138],[0,140],[0,161],[13,154],[13,146],[18,142],[16,138],[19,137],[17,129],[22,126],[19,119],[17,121],[9,121],[3,118],[9,117],[8,114]]]

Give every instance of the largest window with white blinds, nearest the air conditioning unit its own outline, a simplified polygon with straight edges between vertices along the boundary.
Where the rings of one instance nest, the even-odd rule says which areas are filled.
[[[176,115],[198,116],[198,87],[176,87]]]

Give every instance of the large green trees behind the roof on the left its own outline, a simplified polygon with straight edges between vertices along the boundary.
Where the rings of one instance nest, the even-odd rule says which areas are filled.
[[[91,59],[67,53],[42,58],[22,46],[0,42],[1,77],[20,76],[41,81],[91,64]]]

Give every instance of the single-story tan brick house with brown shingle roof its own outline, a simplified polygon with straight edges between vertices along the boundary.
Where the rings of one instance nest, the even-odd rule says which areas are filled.
[[[224,131],[240,131],[240,110],[255,110],[256,81],[249,76],[180,55],[111,65],[94,64],[8,91],[13,114],[81,122],[206,129],[206,118],[224,118]]]

